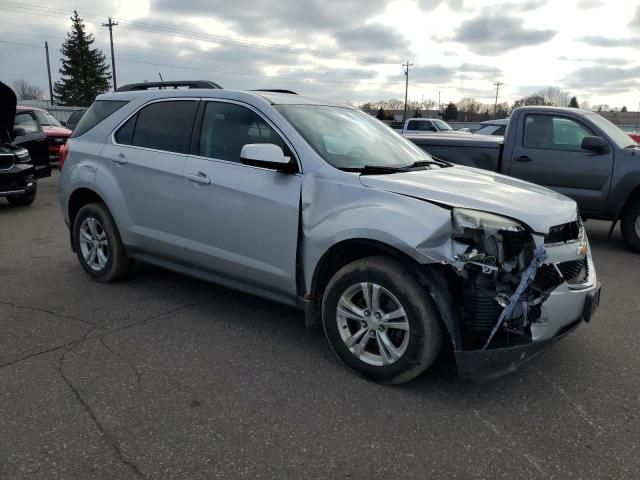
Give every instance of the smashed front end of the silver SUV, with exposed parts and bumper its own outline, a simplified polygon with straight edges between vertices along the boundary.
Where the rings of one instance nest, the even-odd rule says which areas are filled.
[[[590,320],[600,286],[579,216],[546,234],[476,210],[452,216],[447,276],[461,377],[511,372]]]

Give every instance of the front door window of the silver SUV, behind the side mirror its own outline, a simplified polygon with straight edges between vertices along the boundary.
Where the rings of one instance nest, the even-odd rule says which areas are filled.
[[[242,147],[249,143],[273,143],[292,157],[280,135],[253,111],[233,103],[207,102],[198,155],[239,162]]]

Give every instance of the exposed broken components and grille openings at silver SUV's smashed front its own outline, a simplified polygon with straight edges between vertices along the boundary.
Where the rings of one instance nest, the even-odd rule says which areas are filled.
[[[545,244],[578,241],[581,223],[553,227],[534,240],[526,231],[467,228],[455,237],[459,252],[456,270],[461,283],[460,315],[465,348],[511,346],[531,341],[532,322],[540,305],[563,282],[579,284],[588,278],[586,257],[543,263]]]

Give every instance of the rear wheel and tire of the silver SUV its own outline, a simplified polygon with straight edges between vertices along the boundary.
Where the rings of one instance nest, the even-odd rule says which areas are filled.
[[[99,282],[114,282],[129,269],[118,228],[102,203],[80,209],[73,223],[73,244],[84,271]]]

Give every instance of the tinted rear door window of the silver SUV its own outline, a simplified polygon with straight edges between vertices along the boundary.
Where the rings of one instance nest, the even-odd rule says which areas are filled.
[[[138,112],[132,145],[167,152],[188,153],[198,102],[152,103]]]

